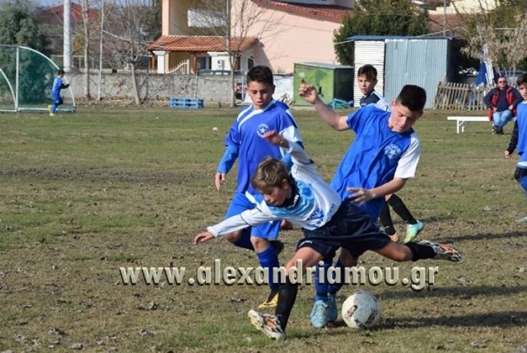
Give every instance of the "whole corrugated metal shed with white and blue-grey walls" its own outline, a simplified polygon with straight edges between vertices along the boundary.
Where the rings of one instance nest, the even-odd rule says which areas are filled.
[[[377,68],[377,86],[387,101],[392,101],[405,84],[421,86],[427,91],[424,108],[432,108],[437,84],[448,76],[449,43],[447,37],[353,36],[355,42],[354,106],[362,94],[357,71],[370,63]]]

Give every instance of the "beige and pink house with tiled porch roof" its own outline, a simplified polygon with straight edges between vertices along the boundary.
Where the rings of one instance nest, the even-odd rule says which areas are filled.
[[[224,24],[211,22],[214,11],[203,4],[162,0],[162,35],[147,46],[158,73],[230,70],[225,37],[217,35]],[[267,65],[291,73],[296,62],[338,63],[333,31],[352,8],[353,0],[232,0],[231,51],[240,55],[236,69]]]

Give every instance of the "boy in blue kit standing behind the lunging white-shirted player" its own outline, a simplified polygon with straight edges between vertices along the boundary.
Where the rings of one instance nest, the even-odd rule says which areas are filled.
[[[225,180],[225,175],[229,173],[238,158],[236,194],[231,200],[225,218],[256,207],[262,198],[258,190],[252,187],[250,180],[259,161],[267,155],[274,158],[282,158],[284,155],[283,150],[266,143],[261,136],[268,131],[276,130],[284,138],[301,143],[291,111],[285,104],[273,100],[273,93],[271,69],[266,66],[251,68],[247,73],[247,94],[251,98],[252,105],[241,109],[238,118],[227,133],[225,154],[216,172],[216,189],[220,190],[221,180]],[[279,221],[267,222],[245,230],[233,231],[226,236],[226,239],[238,247],[254,250],[261,267],[268,268],[268,271],[272,272],[273,267],[279,266],[277,250],[279,252],[283,248],[283,244],[276,240],[279,227]],[[271,293],[261,307],[276,306],[278,285],[273,282],[269,285]]]

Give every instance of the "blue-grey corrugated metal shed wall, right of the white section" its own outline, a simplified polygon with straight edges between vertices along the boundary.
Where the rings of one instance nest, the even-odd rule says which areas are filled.
[[[385,98],[392,101],[402,86],[417,85],[427,91],[424,108],[432,108],[437,84],[447,77],[448,39],[387,39]]]

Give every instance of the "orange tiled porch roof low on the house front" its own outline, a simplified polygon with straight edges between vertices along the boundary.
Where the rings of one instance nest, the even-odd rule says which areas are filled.
[[[232,51],[245,51],[258,42],[255,37],[231,39]],[[225,37],[221,36],[160,36],[147,46],[147,51],[225,51]]]

